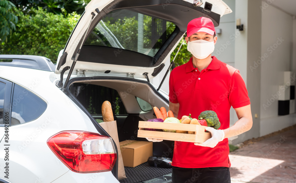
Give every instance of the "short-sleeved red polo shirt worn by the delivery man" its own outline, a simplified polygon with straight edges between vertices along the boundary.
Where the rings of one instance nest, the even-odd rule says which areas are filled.
[[[192,58],[170,73],[169,98],[179,103],[178,119],[183,115],[198,118],[201,112],[217,113],[221,127],[229,128],[229,110],[250,104],[246,85],[239,71],[215,56],[201,72],[193,67]],[[173,166],[183,168],[230,167],[228,139],[214,148],[195,146],[194,143],[175,141]]]

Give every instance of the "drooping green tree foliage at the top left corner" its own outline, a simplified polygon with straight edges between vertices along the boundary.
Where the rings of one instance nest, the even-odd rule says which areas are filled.
[[[15,24],[18,19],[17,16],[12,12],[15,5],[7,0],[0,0],[0,43],[7,41],[13,30],[15,30]]]

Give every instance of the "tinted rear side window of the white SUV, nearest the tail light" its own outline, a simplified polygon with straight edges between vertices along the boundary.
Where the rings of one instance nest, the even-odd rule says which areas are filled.
[[[37,95],[15,84],[12,97],[11,125],[37,119],[47,107]]]

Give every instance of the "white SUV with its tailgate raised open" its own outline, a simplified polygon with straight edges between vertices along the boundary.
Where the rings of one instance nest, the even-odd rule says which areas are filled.
[[[112,104],[119,141],[146,140],[139,120],[155,118],[153,106],[168,109],[149,79],[168,69],[190,20],[218,26],[230,12],[221,0],[92,0],[56,66],[0,55],[0,183],[118,182],[116,145],[96,122],[102,103]],[[153,155],[172,157],[173,145],[153,143]],[[171,182],[171,169],[137,167],[120,182]]]

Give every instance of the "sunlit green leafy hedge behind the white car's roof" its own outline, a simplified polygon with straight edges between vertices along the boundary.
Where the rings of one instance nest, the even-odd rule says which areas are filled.
[[[19,21],[8,41],[1,43],[0,54],[40,55],[56,63],[81,15],[71,13],[65,17],[42,8],[32,11],[33,14],[24,15],[15,9]]]

